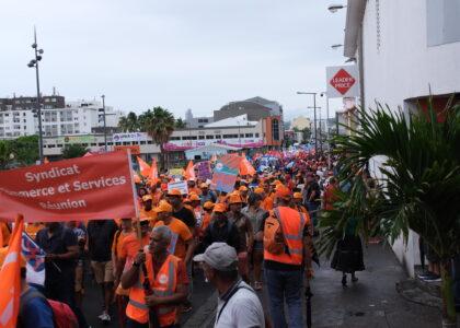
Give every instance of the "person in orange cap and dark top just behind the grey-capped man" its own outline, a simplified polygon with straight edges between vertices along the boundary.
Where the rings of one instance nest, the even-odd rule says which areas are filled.
[[[203,251],[216,242],[227,243],[229,246],[232,246],[234,249],[237,249],[237,251],[241,251],[240,233],[238,227],[229,221],[226,212],[227,206],[225,203],[218,202],[214,206],[214,219],[205,230],[200,246]]]

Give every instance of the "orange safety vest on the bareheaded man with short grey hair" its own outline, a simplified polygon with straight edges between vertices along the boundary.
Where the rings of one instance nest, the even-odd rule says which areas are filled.
[[[180,258],[174,255],[169,255],[157,273],[157,277],[153,279],[152,255],[149,251],[146,253],[147,273],[153,295],[161,297],[172,296],[174,294],[177,286],[176,273],[179,261]],[[126,307],[126,316],[140,324],[147,324],[149,321],[149,306],[146,304],[146,294],[142,288],[143,280],[143,273],[139,272],[139,280],[129,291],[129,302]],[[156,311],[161,327],[176,323],[177,308],[175,305],[159,305],[156,307]]]

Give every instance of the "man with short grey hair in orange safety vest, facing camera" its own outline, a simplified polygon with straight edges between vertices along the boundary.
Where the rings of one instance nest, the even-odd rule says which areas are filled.
[[[122,277],[122,286],[130,289],[128,327],[179,327],[177,305],[187,297],[188,278],[184,262],[168,250],[171,238],[168,226],[156,226],[148,248]]]

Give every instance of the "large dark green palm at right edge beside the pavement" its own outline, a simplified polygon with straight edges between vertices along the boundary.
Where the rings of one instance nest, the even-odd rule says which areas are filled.
[[[428,103],[426,112],[409,116],[380,105],[359,109],[359,128],[334,138],[340,176],[352,189],[340,192],[335,210],[323,215],[320,248],[330,255],[352,218],[358,221],[356,233],[379,229],[391,243],[416,232],[440,258],[442,323],[456,327],[450,265],[460,250],[460,106],[449,102],[436,114]],[[382,177],[369,198],[363,176],[378,155],[386,159]]]

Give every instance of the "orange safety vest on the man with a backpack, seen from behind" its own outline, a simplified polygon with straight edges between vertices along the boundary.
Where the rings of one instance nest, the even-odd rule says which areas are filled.
[[[289,251],[286,253],[285,250],[281,254],[276,255],[264,249],[264,259],[286,265],[302,265],[303,229],[307,221],[304,215],[288,207],[275,208],[272,215],[275,215],[275,213],[281,224],[283,235]]]

